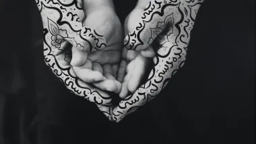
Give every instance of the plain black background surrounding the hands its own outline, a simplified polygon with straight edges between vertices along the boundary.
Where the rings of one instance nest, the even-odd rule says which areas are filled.
[[[0,2],[1,144],[255,142],[254,0],[205,0],[183,69],[119,123],[46,67],[35,1]],[[123,22],[135,1],[115,4]]]

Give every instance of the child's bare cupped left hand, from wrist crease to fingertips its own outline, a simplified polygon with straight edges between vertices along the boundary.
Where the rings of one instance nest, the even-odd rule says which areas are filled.
[[[98,34],[106,38],[106,48],[90,53],[73,48],[71,65],[73,65],[77,77],[88,83],[93,83],[100,89],[119,92],[121,83],[116,80],[116,77],[118,63],[121,61],[121,44],[123,42],[119,18],[115,11],[100,9],[100,11],[87,15],[84,24],[97,30]]]

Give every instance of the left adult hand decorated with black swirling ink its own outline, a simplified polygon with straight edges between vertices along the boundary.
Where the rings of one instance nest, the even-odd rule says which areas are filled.
[[[78,1],[82,3],[81,0]],[[77,13],[83,11],[82,7],[78,7],[78,1],[70,0],[70,3],[62,3],[59,0],[36,0],[44,28],[44,61],[49,69],[55,73],[58,79],[65,84],[69,89],[69,92],[77,96],[83,96],[90,102],[96,103],[98,108],[109,118],[109,120],[112,120],[113,108],[111,108],[112,99],[110,96],[108,96],[106,92],[94,88],[92,85],[79,83],[79,79],[74,74],[73,68],[70,65],[67,65],[67,63],[69,63],[69,57],[71,57],[71,52],[63,49],[63,46],[65,45],[63,44],[63,42],[65,42],[64,38],[67,38],[67,41],[72,42],[72,44],[77,44],[79,46],[79,40],[75,40],[75,36],[77,33],[79,36],[82,28],[86,28],[82,23],[79,23]],[[69,7],[71,10],[77,10],[69,11]],[[61,11],[61,9],[64,11]],[[69,15],[71,15],[71,17],[69,17]],[[75,17],[77,18],[75,19]],[[76,28],[75,26],[80,26],[81,28]],[[102,49],[102,45],[104,45],[104,42],[102,44],[103,39],[98,40],[98,38],[103,36],[97,34],[95,31],[92,33],[88,32],[88,36],[89,34],[96,40],[96,46],[101,46],[100,48]],[[61,53],[58,56],[53,55],[56,50],[61,50]]]

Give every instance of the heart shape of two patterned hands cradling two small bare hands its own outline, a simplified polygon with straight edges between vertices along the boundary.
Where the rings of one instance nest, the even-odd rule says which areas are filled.
[[[122,29],[110,0],[36,0],[44,60],[71,93],[119,122],[155,98],[183,66],[202,3],[139,0]],[[109,92],[123,99],[118,106]]]

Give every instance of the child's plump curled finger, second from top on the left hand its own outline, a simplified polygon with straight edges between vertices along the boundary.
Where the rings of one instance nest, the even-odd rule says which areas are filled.
[[[86,63],[80,67],[73,67],[75,74],[79,79],[87,83],[94,83],[102,81],[103,75],[99,71],[92,71],[92,62],[87,60]]]

